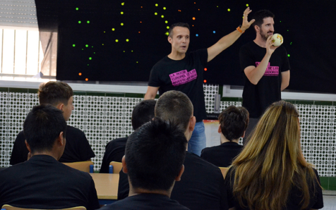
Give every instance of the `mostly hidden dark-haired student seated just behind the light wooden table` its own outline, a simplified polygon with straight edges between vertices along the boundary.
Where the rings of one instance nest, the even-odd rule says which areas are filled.
[[[140,101],[132,111],[132,127],[134,130],[141,125],[151,121],[154,118],[155,100]],[[100,173],[109,173],[109,163],[112,161],[121,162],[125,154],[125,147],[128,137],[119,138],[110,141],[105,147],[104,157],[102,158],[102,166]]]

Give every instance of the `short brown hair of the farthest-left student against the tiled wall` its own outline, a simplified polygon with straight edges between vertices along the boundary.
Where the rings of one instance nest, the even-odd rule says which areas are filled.
[[[63,103],[68,105],[68,100],[73,96],[73,90],[66,82],[50,81],[42,83],[37,94],[40,104],[56,106],[59,103]]]

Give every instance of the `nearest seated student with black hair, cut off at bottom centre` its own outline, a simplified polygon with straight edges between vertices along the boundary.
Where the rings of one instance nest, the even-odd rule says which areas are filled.
[[[169,198],[184,172],[187,143],[176,125],[157,118],[133,132],[122,159],[129,196],[102,209],[188,209]]]

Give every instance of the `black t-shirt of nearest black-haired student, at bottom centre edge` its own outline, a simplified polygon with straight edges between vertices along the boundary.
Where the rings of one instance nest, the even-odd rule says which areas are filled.
[[[113,204],[109,204],[107,206],[102,207],[102,210],[118,210],[118,209],[125,209],[125,210],[188,210],[185,206],[179,204],[169,197],[163,194],[150,194],[150,193],[143,193],[133,195],[131,197],[126,197],[125,199],[114,202]]]

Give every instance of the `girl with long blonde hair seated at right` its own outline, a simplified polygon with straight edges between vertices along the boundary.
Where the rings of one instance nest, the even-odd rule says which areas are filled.
[[[225,178],[229,207],[239,209],[320,209],[317,171],[301,151],[299,113],[285,101],[261,116]]]

